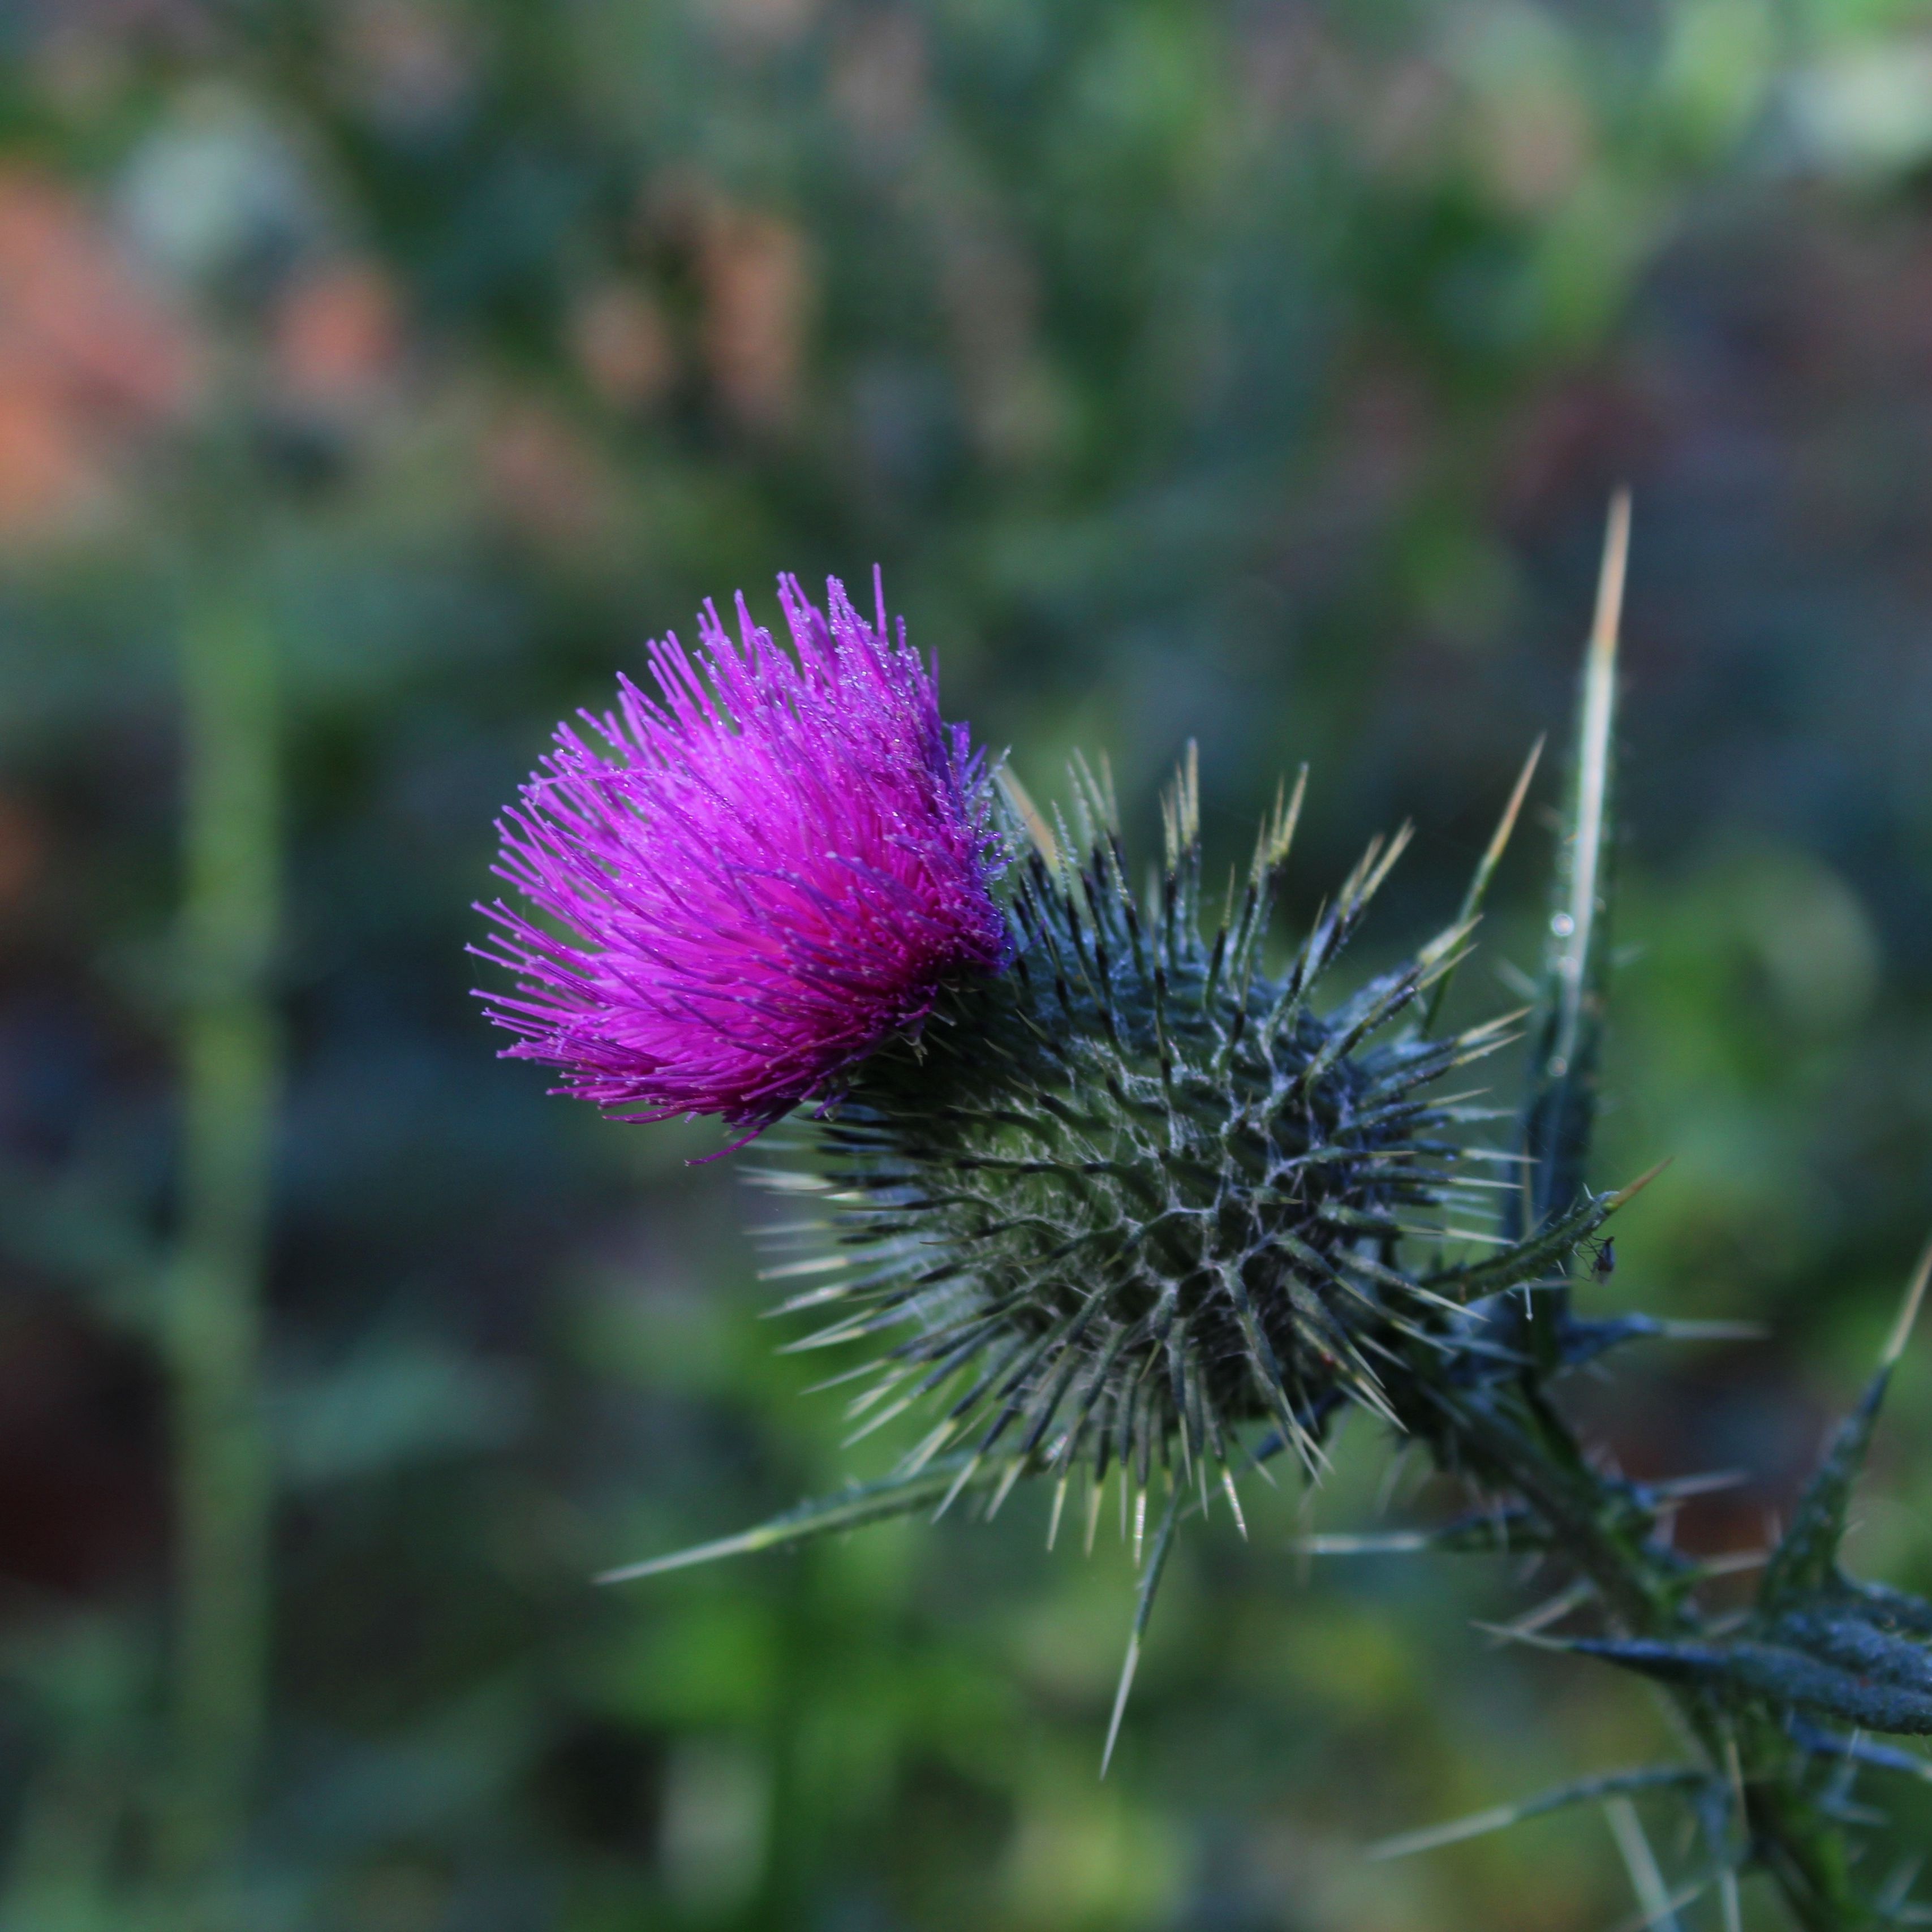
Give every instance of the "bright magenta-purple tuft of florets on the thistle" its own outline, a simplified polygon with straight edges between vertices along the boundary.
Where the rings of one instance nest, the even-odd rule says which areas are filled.
[[[479,997],[560,1092],[757,1132],[1001,966],[983,761],[883,591],[867,624],[827,589],[829,618],[779,580],[792,651],[744,597],[736,643],[705,605],[705,659],[653,643],[659,696],[618,678],[498,821],[497,875],[564,931],[477,908],[518,978]]]

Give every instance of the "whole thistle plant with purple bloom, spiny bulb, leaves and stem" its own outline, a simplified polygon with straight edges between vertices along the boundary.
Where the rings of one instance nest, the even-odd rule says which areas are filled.
[[[508,1053],[618,1119],[715,1115],[765,1136],[757,1182],[792,1204],[769,1269],[813,1318],[796,1349],[854,1349],[858,1434],[912,1416],[883,1480],[753,1530],[611,1573],[796,1544],[910,1511],[991,1515],[1024,1480],[1092,1544],[1107,1492],[1140,1573],[1105,1754],[1184,1519],[1273,1459],[1318,1480],[1364,1408],[1461,1484],[1464,1517],[1399,1538],[1538,1551],[1561,1594],[1524,1640],[1650,1679],[1681,1756],[1611,1772],[1381,1847],[1422,1851],[1571,1803],[1604,1803],[1646,1924],[1741,1924],[1766,1874],[1810,1932],[1932,1922],[1915,1868],[1861,1862],[1859,1779],[1932,1776],[1876,1733],[1932,1733],[1932,1605],[1845,1575],[1839,1546],[1932,1250],[1859,1408],[1762,1567],[1745,1613],[1725,1565],[1673,1548],[1708,1486],[1634,1482],[1561,1406],[1567,1374],[1694,1333],[1586,1318],[1607,1223],[1652,1175],[1586,1179],[1609,968],[1617,611],[1611,516],[1557,844],[1548,956],[1522,1012],[1443,1030],[1443,995],[1520,813],[1519,779],[1457,920],[1401,966],[1333,991],[1337,960],[1401,858],[1368,846],[1277,958],[1277,896],[1306,773],[1244,871],[1204,875],[1194,753],[1136,889],[1105,763],[1041,813],[939,721],[935,678],[833,583],[781,580],[786,651],[738,605],[703,661],[653,647],[659,696],[566,726],[502,821],[483,995]],[[1538,748],[1540,750],[1540,748]],[[1528,1037],[1526,1092],[1495,1107],[1474,1063]],[[782,1122],[782,1126],[781,1126]],[[767,1157],[769,1153],[769,1157]],[[1656,1173],[1656,1169],[1652,1171]],[[1379,1548],[1374,1536],[1310,1548]],[[1580,1634],[1549,1634],[1565,1619]],[[1105,1770],[1105,1756],[1103,1766]],[[1683,1812],[1669,1878],[1633,1797]],[[1876,1793],[1874,1793],[1876,1795]],[[1669,1847],[1667,1847],[1669,1849]]]

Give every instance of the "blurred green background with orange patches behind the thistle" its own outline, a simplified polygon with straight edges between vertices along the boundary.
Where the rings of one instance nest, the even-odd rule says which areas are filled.
[[[1370,1430],[1184,1540],[1105,1783],[1128,1563],[1037,1497],[593,1590],[904,1441],[773,1354],[709,1130],[493,1059],[468,906],[647,636],[877,560],[1142,848],[1188,736],[1229,858],[1312,763],[1300,916],[1414,815],[1368,970],[1565,726],[1627,479],[1596,1179],[1675,1165],[1609,1298],[1774,1333],[1578,1401],[1748,1470],[1683,1534],[1752,1548],[1932,1217],[1932,10],[10,0],[0,56],[0,1926],[1631,1913],[1590,1812],[1364,1861],[1665,1748],[1470,1629],[1536,1580],[1291,1555],[1443,1507]],[[1859,1532],[1920,1590],[1922,1354]]]

